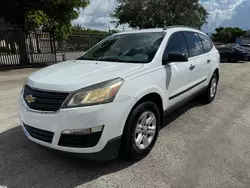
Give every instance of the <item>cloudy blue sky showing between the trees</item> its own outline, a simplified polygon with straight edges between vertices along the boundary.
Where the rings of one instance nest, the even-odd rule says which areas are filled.
[[[209,13],[203,31],[212,33],[218,26],[250,29],[250,0],[201,0],[201,3]],[[110,14],[116,6],[117,0],[90,0],[90,5],[80,11],[79,18],[73,24],[106,31],[114,29]]]

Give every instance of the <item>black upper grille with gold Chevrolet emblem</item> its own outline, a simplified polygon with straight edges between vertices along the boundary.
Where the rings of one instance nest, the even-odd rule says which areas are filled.
[[[26,104],[34,110],[39,111],[57,111],[65,101],[69,93],[59,93],[52,91],[41,91],[33,89],[28,85],[25,86],[23,98]],[[33,101],[28,101],[28,97],[32,97]]]

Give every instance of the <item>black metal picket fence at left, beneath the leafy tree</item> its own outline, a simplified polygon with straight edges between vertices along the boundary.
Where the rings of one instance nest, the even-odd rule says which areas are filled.
[[[56,63],[55,48],[52,33],[0,27],[0,69]]]

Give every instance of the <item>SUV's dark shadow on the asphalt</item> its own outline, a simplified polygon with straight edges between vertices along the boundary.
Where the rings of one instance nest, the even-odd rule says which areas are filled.
[[[186,103],[166,116],[162,128],[201,105],[199,100]],[[95,162],[62,156],[30,142],[20,126],[0,134],[0,159],[0,187],[8,188],[73,188],[134,164],[121,159]]]

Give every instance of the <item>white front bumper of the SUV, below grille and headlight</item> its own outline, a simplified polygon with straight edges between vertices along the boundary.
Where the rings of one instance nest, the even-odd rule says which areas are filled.
[[[120,139],[118,138],[123,133],[126,119],[135,101],[136,99],[126,98],[108,104],[60,109],[55,113],[40,113],[31,111],[22,97],[20,97],[19,117],[28,139],[37,144],[59,151],[87,154],[92,156],[93,159],[95,159],[94,154],[104,155],[103,152],[105,153],[107,150],[111,155],[110,157],[114,158],[114,153],[118,154],[119,150]],[[47,142],[46,140],[35,138],[29,134],[26,130],[27,127],[25,128],[24,125],[45,131],[45,133],[53,133],[51,141]],[[104,125],[104,128],[97,144],[93,147],[65,147],[59,144],[64,130],[87,129],[101,125]],[[110,147],[110,143],[112,147]],[[114,148],[114,146],[116,147]],[[110,148],[114,151],[111,152]],[[103,158],[108,159],[108,156],[103,156]]]

